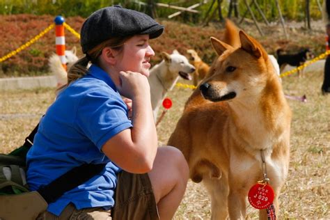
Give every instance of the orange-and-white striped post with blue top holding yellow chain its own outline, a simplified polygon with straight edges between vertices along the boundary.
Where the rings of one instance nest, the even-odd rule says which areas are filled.
[[[56,36],[56,54],[61,60],[63,68],[66,70],[66,58],[65,58],[65,37],[64,37],[64,18],[60,15],[55,17],[55,36]]]

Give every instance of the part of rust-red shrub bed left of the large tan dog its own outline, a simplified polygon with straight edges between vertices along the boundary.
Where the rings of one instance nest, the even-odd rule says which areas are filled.
[[[24,45],[53,22],[54,17],[51,15],[0,15],[0,40],[3,42],[0,57]],[[65,18],[65,22],[79,33],[84,18],[68,17]],[[198,34],[201,33],[201,29],[197,27],[177,22],[160,23],[166,26],[166,31],[162,37],[150,42],[156,52],[155,58],[152,59],[153,63],[161,60],[159,54],[162,51],[171,53],[173,49],[178,49],[180,53],[185,54],[189,48],[200,52],[204,60],[212,60],[214,53],[208,36],[217,36],[219,31],[205,28],[203,34]],[[68,30],[65,31],[65,46],[67,49],[76,46],[78,55],[82,55],[79,39]],[[55,52],[55,31],[52,29],[30,47],[0,63],[0,77],[47,74],[47,58]]]

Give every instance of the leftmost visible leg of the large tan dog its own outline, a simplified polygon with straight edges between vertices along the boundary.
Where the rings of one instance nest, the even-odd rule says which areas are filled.
[[[222,175],[220,179],[204,177],[203,183],[211,196],[211,219],[226,219],[228,217],[228,180]]]

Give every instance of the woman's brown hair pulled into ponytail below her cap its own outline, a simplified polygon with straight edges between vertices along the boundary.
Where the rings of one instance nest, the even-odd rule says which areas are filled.
[[[58,88],[58,90],[61,90],[71,84],[73,81],[84,77],[84,75],[86,75],[88,72],[88,63],[91,62],[97,64],[98,58],[102,53],[102,49],[104,49],[104,47],[111,47],[112,49],[121,51],[123,49],[123,45],[129,38],[132,38],[132,36],[127,36],[125,38],[111,38],[109,40],[105,40],[93,49],[89,50],[84,57],[79,58],[79,60],[72,65],[72,67],[68,71],[68,84],[62,86],[61,88]]]

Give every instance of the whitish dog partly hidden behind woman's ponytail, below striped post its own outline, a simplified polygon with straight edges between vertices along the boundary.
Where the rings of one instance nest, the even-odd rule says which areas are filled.
[[[71,50],[65,50],[65,60],[67,70],[70,69],[73,63],[78,60],[77,48],[73,47]],[[54,74],[57,81],[57,86],[63,86],[68,82],[68,73],[63,68],[60,58],[57,54],[52,54],[48,60],[49,70]]]

